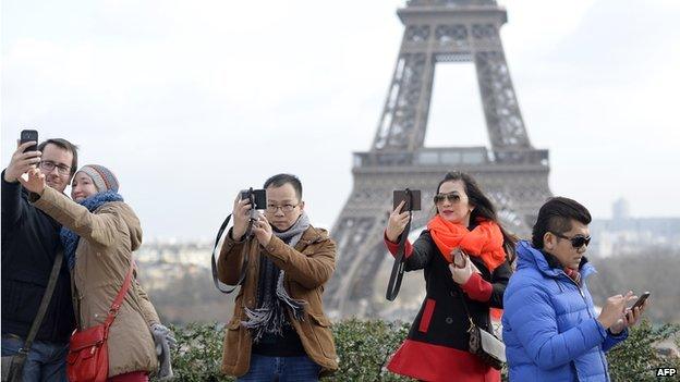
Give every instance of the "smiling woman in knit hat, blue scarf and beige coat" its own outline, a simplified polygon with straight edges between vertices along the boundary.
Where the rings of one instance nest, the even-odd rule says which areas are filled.
[[[20,182],[37,194],[35,206],[63,225],[78,330],[102,324],[131,269],[132,252],[142,244],[139,220],[118,194],[118,178],[102,165],[85,165],[73,177],[73,200],[47,186],[39,169]],[[172,377],[174,338],[134,273],[110,325],[107,381],[148,381],[158,369],[161,379]]]

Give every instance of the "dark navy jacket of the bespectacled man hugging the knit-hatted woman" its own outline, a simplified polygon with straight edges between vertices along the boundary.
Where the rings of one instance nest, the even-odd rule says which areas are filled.
[[[19,183],[2,172],[2,333],[26,337],[49,280],[61,225],[33,207]],[[36,340],[66,342],[75,329],[71,279],[64,258]]]

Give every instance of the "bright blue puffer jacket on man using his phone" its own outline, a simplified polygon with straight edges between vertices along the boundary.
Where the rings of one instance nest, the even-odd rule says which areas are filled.
[[[626,340],[596,320],[581,266],[581,285],[529,242],[518,243],[518,270],[503,296],[503,342],[510,381],[609,381],[605,352]]]

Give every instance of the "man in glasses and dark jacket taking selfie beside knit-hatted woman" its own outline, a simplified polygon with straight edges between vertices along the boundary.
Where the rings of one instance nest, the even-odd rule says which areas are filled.
[[[19,145],[2,171],[2,356],[23,347],[37,315],[61,243],[61,225],[29,202],[17,178],[33,167],[47,184],[62,192],[77,169],[77,148],[65,139],[49,139],[38,151]],[[71,281],[63,261],[52,298],[24,365],[23,381],[65,381],[69,337],[75,328]]]

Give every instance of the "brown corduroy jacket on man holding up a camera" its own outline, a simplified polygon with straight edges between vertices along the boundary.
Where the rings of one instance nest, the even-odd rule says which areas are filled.
[[[233,241],[231,232],[224,238],[217,267],[221,282],[233,285],[239,281],[245,243],[246,241]],[[256,238],[250,243],[246,278],[236,295],[233,317],[227,323],[222,371],[240,377],[250,369],[253,342],[250,331],[241,325],[241,321],[246,320],[245,308],[255,309],[257,304],[262,252],[286,272],[283,286],[288,294],[306,303],[304,319],[291,320],[291,323],[300,335],[307,356],[321,367],[321,375],[332,373],[338,369],[338,356],[330,321],[324,315],[321,295],[324,284],[330,280],[336,268],[336,244],[325,230],[313,226],[303,233],[295,248],[275,235],[271,235],[266,247],[260,246]]]

